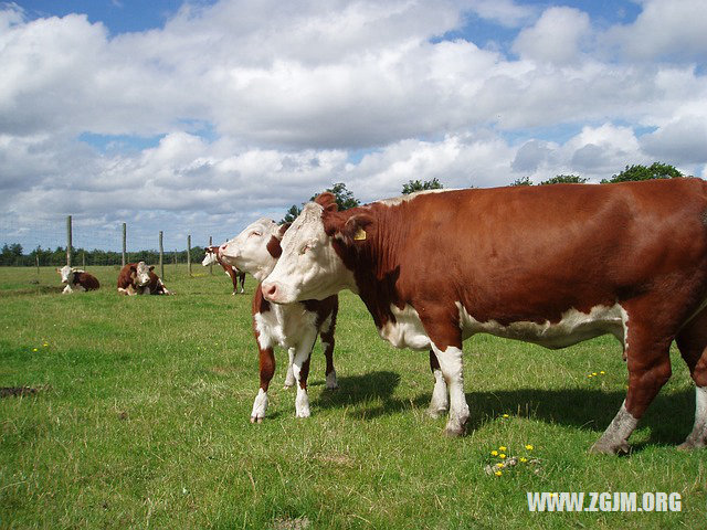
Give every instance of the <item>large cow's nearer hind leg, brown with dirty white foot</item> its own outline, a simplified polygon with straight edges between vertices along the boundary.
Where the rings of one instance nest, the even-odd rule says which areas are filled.
[[[616,416],[591,447],[591,453],[629,453],[629,436],[671,378],[672,337],[666,337],[667,333],[659,335],[657,327],[632,321],[631,316],[627,326],[629,392]]]

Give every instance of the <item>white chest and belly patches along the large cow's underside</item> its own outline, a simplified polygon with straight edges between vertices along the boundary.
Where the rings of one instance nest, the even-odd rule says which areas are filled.
[[[502,326],[495,320],[479,322],[458,301],[456,307],[460,310],[460,327],[463,339],[475,333],[490,333],[557,349],[611,333],[624,343],[624,347],[626,346],[624,338],[627,315],[619,304],[595,306],[588,314],[577,309],[568,309],[558,322],[519,321],[508,326]],[[426,350],[431,347],[430,337],[428,337],[420,316],[413,307],[405,306],[403,309],[399,309],[393,305],[391,312],[395,317],[395,321],[388,321],[378,330],[381,338],[395,348]]]

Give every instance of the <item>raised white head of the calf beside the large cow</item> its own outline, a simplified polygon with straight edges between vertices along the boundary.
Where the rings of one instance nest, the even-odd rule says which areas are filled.
[[[258,219],[243,232],[221,245],[221,259],[262,282],[277,263],[279,242],[289,224],[282,226],[272,219]]]

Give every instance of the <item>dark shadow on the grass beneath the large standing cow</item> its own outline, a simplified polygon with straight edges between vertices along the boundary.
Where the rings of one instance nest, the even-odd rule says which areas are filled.
[[[339,389],[326,391],[315,401],[319,409],[355,406],[352,417],[372,420],[378,416],[425,410],[431,392],[412,400],[393,396],[400,375],[390,371],[339,378]],[[430,383],[432,388],[432,382]],[[659,393],[639,423],[651,431],[647,443],[632,444],[632,451],[647,445],[680,444],[693,427],[695,414],[694,391]],[[485,423],[509,414],[547,423],[603,433],[625,399],[625,392],[605,392],[594,389],[516,389],[494,392],[467,392],[471,417],[468,432]],[[362,405],[362,406],[360,406]],[[432,420],[431,420],[432,421]]]

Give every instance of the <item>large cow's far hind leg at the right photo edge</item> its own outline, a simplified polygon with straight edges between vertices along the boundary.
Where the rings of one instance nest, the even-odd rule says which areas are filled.
[[[678,449],[707,446],[707,309],[677,333],[677,347],[695,381],[695,424]]]

